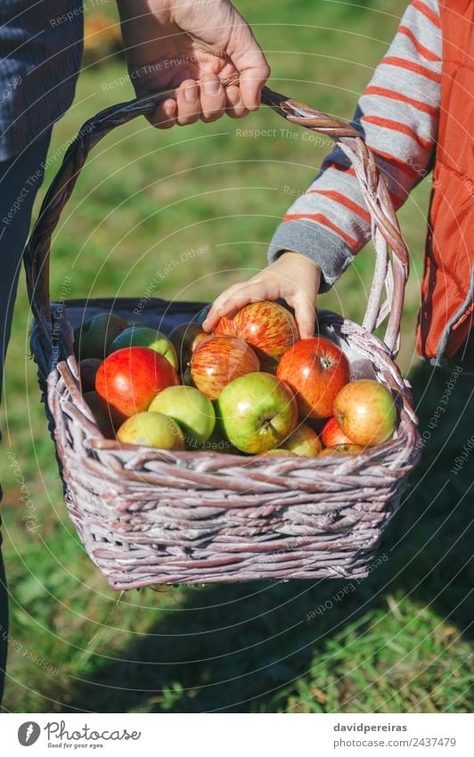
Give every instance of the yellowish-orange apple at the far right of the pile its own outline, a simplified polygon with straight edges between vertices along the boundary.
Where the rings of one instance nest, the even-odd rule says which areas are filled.
[[[334,417],[354,444],[374,447],[395,431],[395,402],[383,384],[357,379],[347,383],[334,399]]]

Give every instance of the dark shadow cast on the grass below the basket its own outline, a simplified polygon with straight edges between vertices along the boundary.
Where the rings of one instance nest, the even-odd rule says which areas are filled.
[[[185,589],[184,608],[162,613],[150,635],[127,647],[123,661],[77,682],[64,712],[258,710],[308,671],[328,638],[356,619],[364,623],[369,610],[387,610],[387,594],[394,592],[430,605],[469,635],[474,452],[470,458],[468,447],[455,473],[454,466],[474,440],[472,376],[453,370],[421,366],[413,372],[426,446],[385,532],[380,555],[386,558],[368,579],[349,590],[342,580]],[[324,603],[331,612],[315,614]]]

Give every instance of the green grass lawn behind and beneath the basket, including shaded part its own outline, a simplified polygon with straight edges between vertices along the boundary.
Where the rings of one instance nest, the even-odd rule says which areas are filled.
[[[273,69],[271,85],[348,119],[396,28],[398,4],[239,4]],[[86,118],[132,96],[104,91],[120,62],[81,75],[50,154]],[[261,109],[245,121],[156,131],[143,119],[91,155],[61,218],[52,297],[212,299],[265,265],[266,245],[304,189],[323,147],[301,137],[238,136],[286,128]],[[295,129],[295,133],[299,133]],[[45,186],[59,167],[47,171]],[[413,258],[400,365],[410,374],[421,430],[449,381],[413,358],[429,182],[400,214]],[[208,251],[159,276],[184,252]],[[189,257],[189,256],[188,256]],[[372,272],[365,251],[323,307],[360,319]],[[86,556],[61,483],[29,359],[29,308],[20,284],[4,386],[4,556],[12,644],[4,707],[12,712],[469,712],[471,574],[469,463],[451,472],[472,432],[470,378],[455,384],[404,505],[380,547],[380,565],[355,585],[291,581],[117,595]],[[5,453],[11,451],[16,473]],[[19,473],[20,472],[20,473]],[[22,477],[21,481],[19,476]],[[28,487],[34,511],[20,500]],[[37,529],[26,528],[26,515]],[[321,606],[329,607],[315,613]],[[37,661],[33,659],[37,656]],[[38,662],[39,660],[39,662]],[[53,670],[48,670],[47,666]]]

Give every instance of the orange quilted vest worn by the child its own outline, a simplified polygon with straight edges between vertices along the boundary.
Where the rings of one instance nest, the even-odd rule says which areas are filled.
[[[473,325],[474,0],[440,0],[441,111],[417,349],[442,363]]]

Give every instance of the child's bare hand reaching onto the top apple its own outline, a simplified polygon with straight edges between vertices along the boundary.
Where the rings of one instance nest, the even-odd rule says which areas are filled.
[[[315,333],[315,304],[320,280],[321,271],[312,260],[299,252],[283,252],[248,282],[233,284],[219,294],[202,328],[212,331],[219,318],[231,315],[249,302],[281,297],[295,310],[301,339],[308,339]]]

